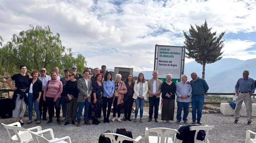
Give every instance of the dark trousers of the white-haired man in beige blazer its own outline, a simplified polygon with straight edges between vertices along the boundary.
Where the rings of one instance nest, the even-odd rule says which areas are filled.
[[[159,107],[159,101],[160,101],[160,97],[148,97],[148,102],[150,104],[150,109],[149,109],[149,118],[152,118],[153,116],[153,108],[155,106],[155,110],[154,110],[154,118],[158,118],[158,107]]]

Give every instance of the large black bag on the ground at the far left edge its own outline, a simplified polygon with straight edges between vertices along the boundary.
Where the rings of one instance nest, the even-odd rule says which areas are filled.
[[[4,98],[1,95],[0,98],[0,117],[2,119],[11,118],[13,116],[12,99]]]

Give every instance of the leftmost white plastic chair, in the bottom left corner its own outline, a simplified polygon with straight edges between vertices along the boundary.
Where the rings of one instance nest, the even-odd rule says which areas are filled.
[[[37,129],[37,132],[42,130],[41,126],[36,126],[36,127],[32,127],[29,129],[24,129],[23,127],[20,126],[20,122],[15,122],[12,124],[3,124],[4,127],[7,130],[8,136],[9,136],[9,143],[11,142],[15,142],[15,143],[28,143],[30,141],[32,141],[32,136],[31,134],[28,132],[28,130],[35,130]],[[13,130],[15,135],[11,136],[9,130]]]

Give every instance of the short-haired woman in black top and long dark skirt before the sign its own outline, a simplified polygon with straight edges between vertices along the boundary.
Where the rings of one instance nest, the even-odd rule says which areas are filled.
[[[171,81],[171,77],[171,74],[167,74],[166,82],[163,82],[161,86],[163,99],[161,120],[163,120],[164,123],[169,122],[169,120],[173,121],[174,118],[176,85]]]

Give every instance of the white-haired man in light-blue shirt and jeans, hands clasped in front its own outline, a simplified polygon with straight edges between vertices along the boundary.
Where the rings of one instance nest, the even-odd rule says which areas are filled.
[[[181,121],[181,112],[182,108],[184,110],[183,114],[183,121],[185,124],[188,123],[187,116],[188,116],[188,109],[189,109],[189,102],[191,101],[190,95],[192,92],[192,87],[190,84],[187,84],[188,77],[187,75],[183,74],[181,76],[181,82],[176,84],[176,95],[177,95],[177,122],[180,123]]]

